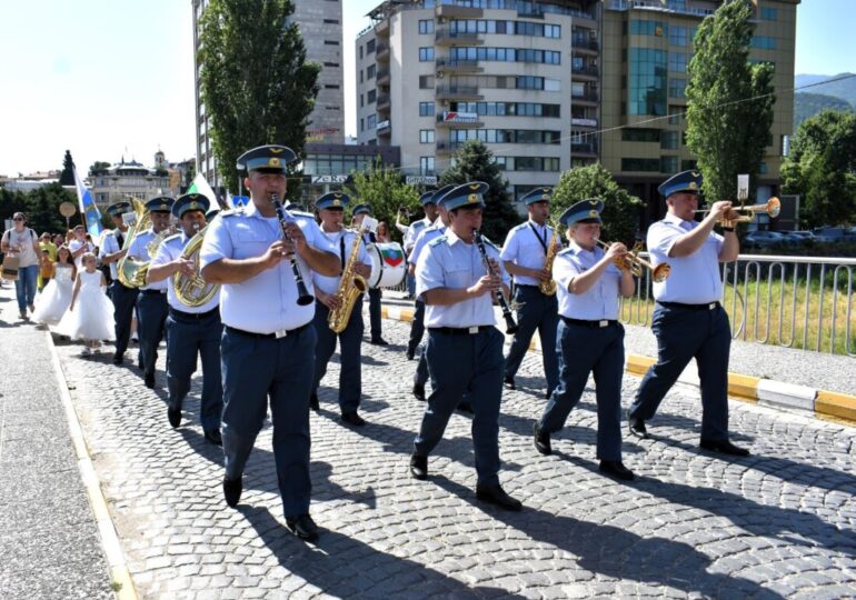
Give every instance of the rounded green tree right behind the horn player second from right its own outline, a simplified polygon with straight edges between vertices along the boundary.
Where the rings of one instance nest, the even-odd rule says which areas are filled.
[[[553,192],[551,217],[558,219],[565,209],[589,198],[604,201],[604,212],[600,213],[603,240],[620,241],[628,248],[633,246],[644,203],[620,188],[603,164],[578,167],[561,173]]]

